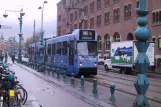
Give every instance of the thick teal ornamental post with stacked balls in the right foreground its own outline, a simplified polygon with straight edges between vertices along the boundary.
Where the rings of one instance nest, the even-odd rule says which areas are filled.
[[[136,99],[133,103],[133,107],[149,107],[148,100],[146,98],[146,91],[149,87],[149,81],[146,76],[148,72],[148,66],[150,64],[146,51],[149,47],[149,42],[147,40],[150,38],[150,31],[146,27],[148,19],[148,10],[146,10],[146,0],[139,0],[139,8],[136,9],[139,27],[135,31],[135,37],[137,39],[136,47],[138,50],[138,55],[135,60],[135,67],[138,71],[138,75],[134,82],[134,86],[137,91]]]

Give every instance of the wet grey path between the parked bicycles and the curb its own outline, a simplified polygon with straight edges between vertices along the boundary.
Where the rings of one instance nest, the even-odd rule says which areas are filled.
[[[28,92],[25,107],[93,107],[78,97],[20,68],[16,64],[10,67]]]

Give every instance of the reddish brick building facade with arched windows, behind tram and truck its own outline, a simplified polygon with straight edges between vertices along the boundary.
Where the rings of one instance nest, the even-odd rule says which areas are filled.
[[[151,31],[149,41],[155,42],[156,61],[161,58],[158,39],[161,37],[161,0],[146,0],[149,14],[147,27]],[[106,56],[110,52],[110,43],[135,39],[137,28],[136,8],[138,0],[66,0],[68,6],[83,8],[85,21],[83,29],[96,29],[98,32],[99,55]],[[63,8],[63,0],[57,4],[57,36],[67,34],[79,26],[81,11]]]

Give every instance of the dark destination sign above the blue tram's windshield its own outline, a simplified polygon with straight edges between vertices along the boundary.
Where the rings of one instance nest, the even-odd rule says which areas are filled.
[[[94,40],[95,31],[94,30],[80,30],[80,40]]]

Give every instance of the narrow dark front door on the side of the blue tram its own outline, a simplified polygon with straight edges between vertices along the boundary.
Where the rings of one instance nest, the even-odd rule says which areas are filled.
[[[69,47],[69,66],[74,66],[74,41],[73,40],[70,41],[70,47]]]

